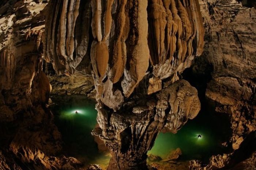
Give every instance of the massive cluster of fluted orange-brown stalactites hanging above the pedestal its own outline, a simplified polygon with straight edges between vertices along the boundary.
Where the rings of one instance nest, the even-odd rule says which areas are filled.
[[[46,21],[46,61],[69,75],[90,57],[97,96],[114,110],[148,73],[153,86],[169,77],[175,82],[203,50],[197,0],[65,0],[49,5],[54,15]]]

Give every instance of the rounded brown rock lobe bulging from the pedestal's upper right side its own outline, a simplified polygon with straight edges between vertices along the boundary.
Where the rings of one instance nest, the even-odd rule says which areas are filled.
[[[197,90],[185,80],[178,80],[157,94],[157,115],[155,120],[163,122],[166,109],[170,107],[167,114],[167,122],[164,131],[177,131],[188,121],[193,119],[200,111],[200,101]]]

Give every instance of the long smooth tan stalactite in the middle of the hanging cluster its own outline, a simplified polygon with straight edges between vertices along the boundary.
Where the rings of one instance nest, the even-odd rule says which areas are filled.
[[[133,1],[133,7],[138,13],[133,13],[133,29],[132,33],[138,34],[135,44],[131,46],[132,49],[129,52],[129,60],[127,67],[124,71],[124,79],[122,80],[122,88],[125,97],[129,97],[134,88],[138,85],[140,80],[146,75],[148,69],[149,49],[147,44],[147,2],[146,1]],[[134,36],[134,35],[133,35]],[[131,42],[132,43],[132,42]]]

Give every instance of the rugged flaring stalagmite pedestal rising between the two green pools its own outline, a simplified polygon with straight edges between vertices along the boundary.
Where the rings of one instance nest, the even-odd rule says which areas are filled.
[[[200,110],[197,91],[185,80],[170,84],[157,95],[135,95],[124,102],[125,109],[112,113],[103,103],[96,106],[99,136],[110,149],[109,170],[147,169],[147,151],[158,132],[176,133]]]

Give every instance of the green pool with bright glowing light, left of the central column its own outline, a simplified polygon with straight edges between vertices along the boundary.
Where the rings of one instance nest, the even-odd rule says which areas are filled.
[[[91,135],[97,124],[95,101],[80,95],[53,95],[51,99],[55,104],[50,109],[64,141],[63,154],[78,158],[86,165],[107,166],[109,154],[98,151]]]

